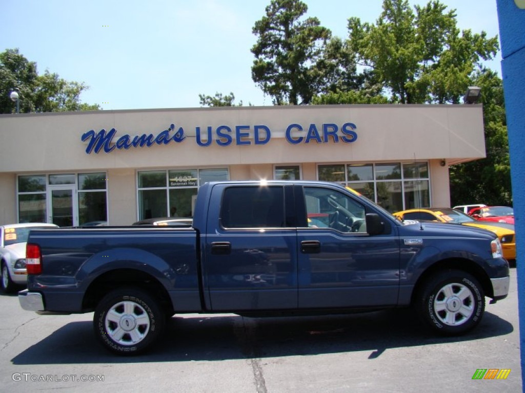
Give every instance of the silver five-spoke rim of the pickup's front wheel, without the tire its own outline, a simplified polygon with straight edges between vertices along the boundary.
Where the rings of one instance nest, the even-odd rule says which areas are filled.
[[[437,318],[444,324],[462,325],[474,313],[474,294],[463,284],[449,283],[437,291],[434,310]]]

